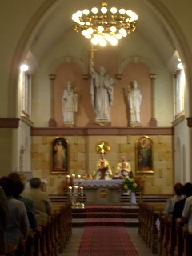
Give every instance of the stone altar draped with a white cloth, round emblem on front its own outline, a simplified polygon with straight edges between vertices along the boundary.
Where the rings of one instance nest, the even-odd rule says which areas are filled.
[[[122,179],[74,179],[75,186],[83,187],[88,204],[120,204],[122,191],[118,186],[122,182]]]

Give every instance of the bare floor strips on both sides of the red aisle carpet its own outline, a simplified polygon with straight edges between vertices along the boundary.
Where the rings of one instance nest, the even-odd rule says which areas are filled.
[[[126,228],[131,241],[134,244],[134,247],[138,251],[139,256],[154,256],[152,251],[146,246],[146,243],[142,240],[140,235],[138,234],[138,228],[136,227],[128,227]],[[70,241],[67,243],[66,248],[62,254],[58,254],[58,256],[77,256],[78,255],[78,247],[82,239],[84,228],[77,227],[73,228],[73,234],[70,237]],[[88,256],[88,255],[85,255]],[[121,256],[121,255],[117,255]]]

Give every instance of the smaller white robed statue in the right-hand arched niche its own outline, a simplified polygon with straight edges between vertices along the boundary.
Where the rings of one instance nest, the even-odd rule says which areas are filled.
[[[142,102],[141,90],[138,88],[138,82],[134,80],[133,88],[127,95],[130,106],[130,126],[140,126],[140,106]]]

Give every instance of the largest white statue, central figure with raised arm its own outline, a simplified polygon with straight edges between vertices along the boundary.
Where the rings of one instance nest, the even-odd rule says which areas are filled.
[[[114,100],[115,79],[106,74],[103,66],[100,67],[99,74],[90,66],[92,81],[90,86],[91,103],[96,113],[96,122],[110,121],[110,106]]]

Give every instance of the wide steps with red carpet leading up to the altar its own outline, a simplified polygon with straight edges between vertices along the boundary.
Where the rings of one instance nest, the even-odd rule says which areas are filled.
[[[89,209],[89,210],[87,210]],[[138,227],[138,205],[72,207],[72,226]]]

